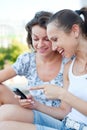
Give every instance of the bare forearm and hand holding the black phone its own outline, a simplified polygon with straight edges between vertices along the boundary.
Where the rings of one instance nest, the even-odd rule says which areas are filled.
[[[16,97],[20,98],[18,96]],[[44,105],[34,100],[32,95],[29,95],[27,99],[19,100],[19,102],[20,102],[20,105],[24,108],[37,110],[57,119],[63,119],[65,115],[67,115],[67,113],[70,111],[70,107],[68,107],[68,104],[62,103],[61,109],[60,107],[49,107],[47,105]],[[67,109],[67,107],[69,109]]]

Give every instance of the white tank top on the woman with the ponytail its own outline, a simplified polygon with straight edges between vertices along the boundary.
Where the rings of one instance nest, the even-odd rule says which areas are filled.
[[[74,61],[75,59],[72,61],[69,69],[70,85],[68,91],[80,99],[87,101],[87,74],[75,76],[72,73]],[[74,108],[72,108],[71,112],[68,114],[68,117],[72,120],[87,124],[87,116],[83,115]]]

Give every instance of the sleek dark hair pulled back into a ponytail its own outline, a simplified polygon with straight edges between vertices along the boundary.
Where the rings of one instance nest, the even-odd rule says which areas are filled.
[[[83,15],[83,18],[80,15]],[[87,37],[86,7],[83,7],[77,11],[72,11],[70,9],[60,10],[49,19],[48,24],[51,22],[54,22],[58,28],[62,28],[67,33],[71,31],[73,24],[78,24],[82,35]]]

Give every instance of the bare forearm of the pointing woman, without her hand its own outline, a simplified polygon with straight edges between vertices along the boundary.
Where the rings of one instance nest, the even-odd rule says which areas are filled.
[[[65,91],[64,96],[61,96],[61,100],[75,108],[79,112],[87,116],[87,102],[74,96],[72,93]]]

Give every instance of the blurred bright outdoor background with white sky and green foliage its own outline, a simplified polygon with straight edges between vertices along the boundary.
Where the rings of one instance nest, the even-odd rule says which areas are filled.
[[[0,0],[0,69],[15,62],[17,56],[31,51],[26,43],[25,25],[37,11],[55,13],[60,9],[79,10],[87,0]],[[16,76],[6,82],[10,87],[24,87],[27,80]]]

